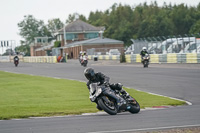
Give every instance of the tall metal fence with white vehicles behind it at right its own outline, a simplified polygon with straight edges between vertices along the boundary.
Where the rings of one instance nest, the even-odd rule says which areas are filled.
[[[150,54],[200,53],[200,34],[184,36],[158,36],[131,39],[133,44],[127,51],[139,54],[142,47],[147,47]],[[127,52],[128,53],[128,52]]]

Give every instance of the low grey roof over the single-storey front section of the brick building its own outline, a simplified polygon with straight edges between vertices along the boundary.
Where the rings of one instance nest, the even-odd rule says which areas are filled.
[[[97,37],[97,38],[88,39],[84,41],[72,42],[61,48],[69,48],[69,47],[82,46],[82,45],[99,45],[99,44],[124,44],[124,42],[115,40],[115,39],[110,39],[110,38]]]

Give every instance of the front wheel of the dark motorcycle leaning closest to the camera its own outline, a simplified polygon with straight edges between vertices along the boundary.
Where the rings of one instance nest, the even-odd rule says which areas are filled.
[[[110,115],[116,115],[117,114],[117,108],[114,104],[114,102],[110,101],[108,97],[107,100],[104,100],[103,98],[98,99],[98,105],[108,114]]]

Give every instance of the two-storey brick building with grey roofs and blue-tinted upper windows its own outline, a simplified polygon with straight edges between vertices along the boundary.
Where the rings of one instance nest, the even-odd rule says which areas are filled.
[[[36,48],[36,56],[42,56],[45,54],[44,51],[50,49],[52,49],[53,55],[65,56],[68,54],[69,58],[74,59],[79,57],[80,51],[86,51],[90,54],[106,54],[110,49],[118,49],[121,53],[124,52],[123,41],[104,38],[104,30],[104,27],[95,27],[81,20],[76,20],[55,33],[56,41],[61,42],[61,47],[52,49],[53,44],[50,44],[49,47]]]

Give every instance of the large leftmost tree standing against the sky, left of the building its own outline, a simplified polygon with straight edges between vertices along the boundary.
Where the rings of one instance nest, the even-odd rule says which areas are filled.
[[[35,37],[51,37],[51,34],[42,20],[35,19],[32,15],[24,16],[24,20],[18,23],[20,35],[25,43],[30,45]]]

